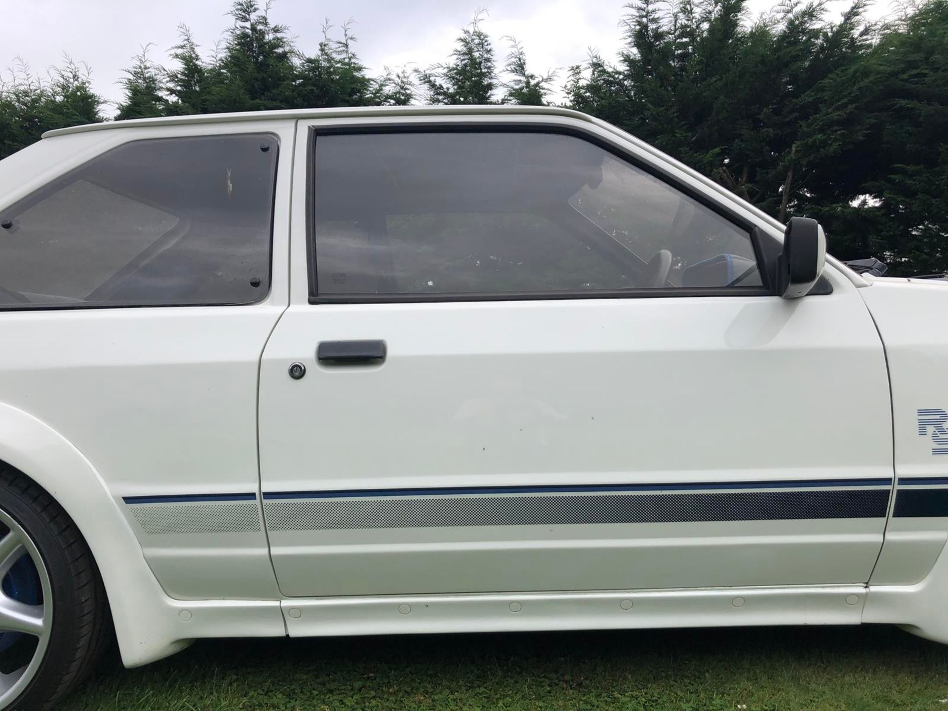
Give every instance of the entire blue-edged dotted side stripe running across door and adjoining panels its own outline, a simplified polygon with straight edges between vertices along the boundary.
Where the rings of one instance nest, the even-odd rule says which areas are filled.
[[[274,531],[884,518],[892,481],[795,480],[267,492]],[[948,517],[948,478],[902,478],[893,515]],[[124,497],[149,535],[261,530],[255,494]]]

